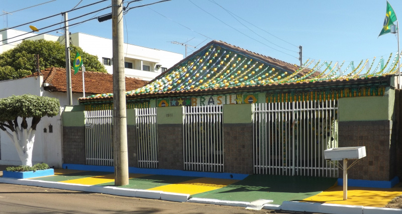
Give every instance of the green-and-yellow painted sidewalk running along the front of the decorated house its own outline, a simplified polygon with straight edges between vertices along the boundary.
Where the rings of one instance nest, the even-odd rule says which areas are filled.
[[[337,179],[323,177],[249,175],[243,180],[150,174],[129,174],[129,177],[129,184],[119,187],[189,194],[190,198],[245,202],[269,199],[277,205],[283,201],[306,201],[384,207],[402,194],[400,183],[389,189],[349,187],[348,200],[343,200]],[[54,176],[31,180],[114,186],[111,172],[55,169]]]

